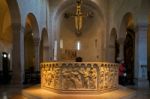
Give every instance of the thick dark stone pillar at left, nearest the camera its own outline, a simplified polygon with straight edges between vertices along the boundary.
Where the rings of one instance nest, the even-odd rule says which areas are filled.
[[[20,25],[12,25],[13,50],[12,50],[12,84],[22,86],[24,80],[24,29]]]

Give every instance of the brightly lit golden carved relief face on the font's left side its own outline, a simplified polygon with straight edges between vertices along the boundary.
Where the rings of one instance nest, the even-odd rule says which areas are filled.
[[[60,89],[61,68],[58,64],[42,66],[41,86],[46,88]]]

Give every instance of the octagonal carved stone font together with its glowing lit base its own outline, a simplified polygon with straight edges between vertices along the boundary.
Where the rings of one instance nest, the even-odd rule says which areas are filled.
[[[118,85],[118,67],[106,62],[44,62],[41,85],[22,93],[29,99],[131,99],[136,91]]]

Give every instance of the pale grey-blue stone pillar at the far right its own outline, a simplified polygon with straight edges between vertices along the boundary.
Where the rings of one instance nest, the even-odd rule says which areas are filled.
[[[137,28],[135,36],[135,83],[138,88],[148,88],[147,80],[147,25]]]

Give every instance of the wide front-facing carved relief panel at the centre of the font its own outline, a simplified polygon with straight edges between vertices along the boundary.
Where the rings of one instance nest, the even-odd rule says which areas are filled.
[[[63,90],[96,90],[97,69],[91,64],[64,64],[62,67]]]

